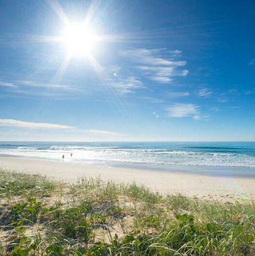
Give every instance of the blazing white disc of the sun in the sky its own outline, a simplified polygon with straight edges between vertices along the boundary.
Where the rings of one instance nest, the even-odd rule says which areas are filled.
[[[83,57],[95,47],[96,36],[83,23],[70,23],[63,31],[62,42],[73,57]]]

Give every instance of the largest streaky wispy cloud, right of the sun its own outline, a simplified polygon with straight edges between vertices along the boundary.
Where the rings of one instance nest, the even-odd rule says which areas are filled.
[[[179,50],[170,52],[168,58],[162,57],[169,52],[165,49],[128,49],[122,52],[122,55],[127,57],[139,65],[134,65],[134,68],[142,71],[150,80],[168,83],[173,81],[176,76],[186,76],[189,71],[182,67],[186,65],[186,61],[177,60]]]

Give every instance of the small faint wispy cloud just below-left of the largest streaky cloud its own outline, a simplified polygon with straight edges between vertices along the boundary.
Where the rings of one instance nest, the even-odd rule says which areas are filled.
[[[134,89],[145,88],[143,82],[134,76],[124,79],[116,77],[110,80],[110,84],[121,94],[131,93]]]

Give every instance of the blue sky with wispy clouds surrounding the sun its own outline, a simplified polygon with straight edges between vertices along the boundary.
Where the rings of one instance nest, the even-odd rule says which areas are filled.
[[[0,140],[255,141],[254,26],[254,1],[2,0]]]

